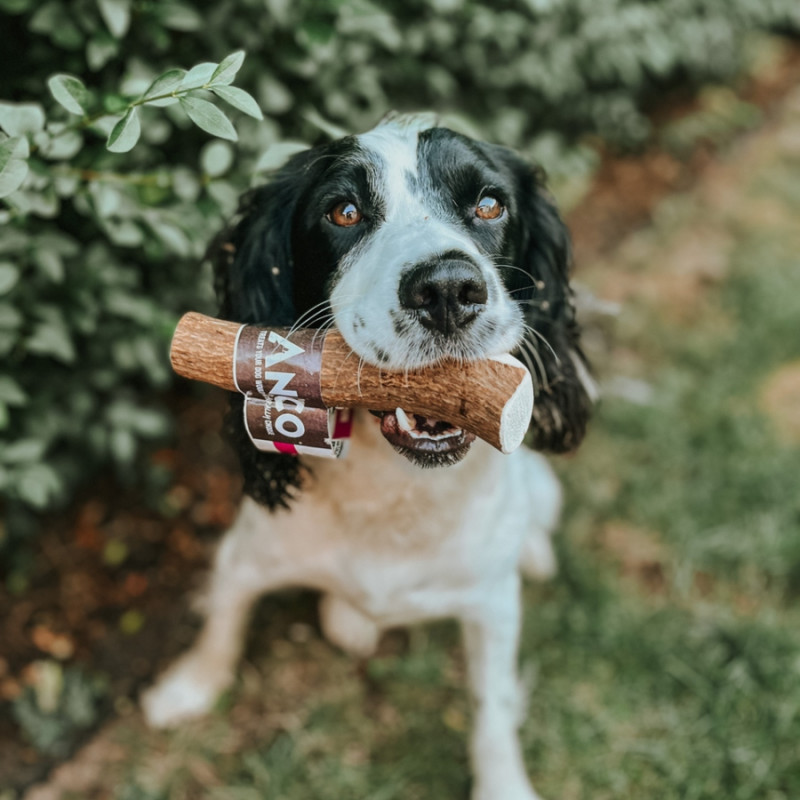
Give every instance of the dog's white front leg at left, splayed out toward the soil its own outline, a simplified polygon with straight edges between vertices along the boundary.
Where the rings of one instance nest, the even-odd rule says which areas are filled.
[[[145,719],[153,727],[171,727],[211,710],[233,683],[253,603],[282,585],[279,570],[254,563],[249,516],[240,515],[217,551],[201,601],[205,622],[197,640],[142,695]]]

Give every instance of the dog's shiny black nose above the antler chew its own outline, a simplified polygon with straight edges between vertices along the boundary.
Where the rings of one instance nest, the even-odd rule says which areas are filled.
[[[469,324],[486,307],[489,292],[480,270],[462,259],[420,264],[400,281],[400,302],[419,321],[446,335]]]

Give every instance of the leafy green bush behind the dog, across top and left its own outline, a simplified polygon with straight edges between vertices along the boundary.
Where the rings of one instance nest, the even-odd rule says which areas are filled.
[[[298,141],[434,108],[569,175],[587,135],[644,141],[659,91],[734,76],[756,28],[796,33],[800,6],[0,0],[7,518],[165,435],[172,327],[213,310],[206,243]]]

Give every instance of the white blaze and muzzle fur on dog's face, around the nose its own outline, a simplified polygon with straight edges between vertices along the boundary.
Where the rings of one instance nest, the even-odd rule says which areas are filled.
[[[500,355],[513,350],[522,336],[520,308],[503,288],[491,259],[454,220],[452,209],[442,208],[424,188],[410,185],[408,176],[419,177],[419,133],[414,124],[391,120],[358,137],[370,154],[371,183],[385,204],[386,218],[342,260],[342,277],[331,292],[336,325],[347,344],[373,363],[380,362],[378,352],[386,354],[389,360],[382,366],[389,369],[414,369],[445,355],[468,360]],[[478,265],[488,300],[471,341],[454,342],[452,351],[443,352],[442,345],[430,347],[430,332],[419,323],[398,336],[391,314],[401,313],[397,287],[403,272],[448,250],[461,251]]]

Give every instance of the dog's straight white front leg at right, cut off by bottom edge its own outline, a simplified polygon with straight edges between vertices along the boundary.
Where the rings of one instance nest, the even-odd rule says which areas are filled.
[[[484,597],[484,604],[461,618],[475,702],[472,800],[537,800],[517,735],[522,702],[517,679],[519,576],[492,585]]]

